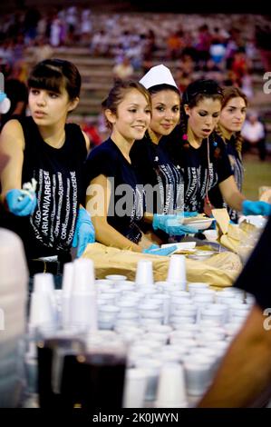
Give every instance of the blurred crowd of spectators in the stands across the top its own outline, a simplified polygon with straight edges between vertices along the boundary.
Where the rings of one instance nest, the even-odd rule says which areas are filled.
[[[25,48],[40,62],[55,47],[83,46],[89,57],[114,60],[115,80],[144,74],[155,61],[172,61],[181,93],[195,75],[208,74],[251,99],[255,68],[271,70],[270,35],[264,15],[95,15],[76,5],[42,12],[33,7],[0,17],[0,71],[25,82]]]

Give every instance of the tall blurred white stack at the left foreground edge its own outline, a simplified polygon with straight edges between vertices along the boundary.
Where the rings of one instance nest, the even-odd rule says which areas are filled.
[[[16,407],[22,389],[28,270],[17,234],[0,228],[0,407]]]

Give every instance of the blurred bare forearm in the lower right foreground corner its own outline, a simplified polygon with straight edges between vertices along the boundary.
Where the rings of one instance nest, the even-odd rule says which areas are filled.
[[[265,320],[255,306],[198,407],[247,407],[266,390],[271,383],[271,331],[264,328]]]

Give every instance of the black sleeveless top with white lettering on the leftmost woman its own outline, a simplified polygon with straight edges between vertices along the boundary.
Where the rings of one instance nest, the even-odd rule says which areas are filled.
[[[66,124],[66,139],[59,149],[46,144],[32,117],[20,119],[25,149],[22,185],[37,181],[34,214],[7,214],[8,228],[24,242],[27,258],[69,253],[76,214],[84,202],[85,140],[77,124]]]

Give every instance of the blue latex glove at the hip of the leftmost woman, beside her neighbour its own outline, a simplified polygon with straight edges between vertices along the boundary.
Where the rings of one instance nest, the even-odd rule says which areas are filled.
[[[94,242],[95,230],[91,215],[83,207],[80,207],[73,236],[73,248],[77,247],[77,258],[82,255],[88,243]]]

